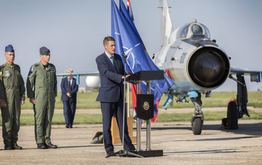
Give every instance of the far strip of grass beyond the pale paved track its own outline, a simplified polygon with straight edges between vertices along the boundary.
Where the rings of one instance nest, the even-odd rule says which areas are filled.
[[[98,95],[98,90],[94,90],[88,93],[77,93],[77,109],[100,109],[100,102],[95,101]],[[212,92],[211,97],[206,98],[205,94],[201,94],[202,107],[227,107],[229,100],[236,98],[237,92]],[[262,91],[247,92],[248,106],[262,107]],[[61,99],[61,93],[57,94],[55,109],[63,109],[63,102]],[[174,97],[173,108],[194,108],[195,106],[189,100],[189,103],[176,103]],[[166,101],[164,94],[161,97],[159,107],[162,107]],[[132,94],[130,92],[130,108],[132,106]],[[171,108],[170,105],[167,108]],[[33,105],[29,103],[29,98],[26,98],[24,105],[21,109],[33,109]]]

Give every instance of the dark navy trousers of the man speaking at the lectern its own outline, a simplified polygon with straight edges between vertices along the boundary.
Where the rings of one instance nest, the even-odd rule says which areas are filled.
[[[103,121],[103,138],[104,146],[106,152],[110,148],[114,149],[112,144],[112,135],[111,135],[111,121],[114,114],[116,115],[116,122],[119,128],[120,139],[123,144],[123,105],[124,101],[122,97],[119,98],[117,102],[108,103],[100,102],[101,111],[102,111],[102,121]],[[128,126],[127,126],[127,117],[125,113],[125,132],[124,132],[124,149],[125,150],[135,150],[134,145],[128,135]]]

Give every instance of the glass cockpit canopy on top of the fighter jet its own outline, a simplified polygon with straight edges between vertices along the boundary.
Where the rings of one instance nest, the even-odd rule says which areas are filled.
[[[204,26],[203,24],[199,24],[197,22],[185,24],[177,33],[178,38],[182,40],[188,39],[192,35],[205,35],[205,38],[210,39],[208,28],[206,28],[206,26]]]

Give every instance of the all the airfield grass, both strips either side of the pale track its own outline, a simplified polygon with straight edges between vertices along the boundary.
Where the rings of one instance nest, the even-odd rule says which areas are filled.
[[[100,102],[96,102],[98,90],[89,93],[78,93],[77,94],[77,109],[100,109]],[[212,92],[210,98],[205,98],[202,94],[202,107],[227,107],[229,100],[236,98],[237,92]],[[130,97],[131,93],[130,93]],[[60,101],[61,93],[56,97],[55,109],[63,109],[63,103]],[[262,107],[262,91],[248,92],[248,106]],[[160,100],[159,107],[162,107],[166,101],[163,95]],[[174,108],[194,108],[191,101],[189,103],[176,103],[174,101]],[[33,109],[29,99],[27,98],[25,104],[21,106],[22,109]],[[132,98],[130,98],[130,108],[132,110]],[[167,108],[171,108],[169,105]],[[193,111],[192,111],[193,112]],[[218,121],[226,118],[226,111],[219,112],[203,112],[205,121]],[[262,119],[261,112],[249,111],[250,118],[246,115],[239,120],[251,120],[251,119]],[[191,121],[192,113],[162,113],[158,114],[157,122],[171,122],[171,121]],[[133,121],[134,122],[134,121]],[[102,114],[75,114],[74,124],[101,124]],[[64,125],[65,119],[63,114],[54,114],[52,119],[54,125]],[[0,125],[2,125],[2,119],[0,118]],[[21,114],[20,125],[34,125],[34,114]]]

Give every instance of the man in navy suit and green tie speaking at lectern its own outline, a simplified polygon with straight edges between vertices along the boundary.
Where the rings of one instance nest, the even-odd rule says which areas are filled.
[[[115,54],[116,44],[113,37],[105,37],[103,41],[105,52],[99,55],[95,61],[100,76],[100,89],[96,101],[100,101],[103,121],[103,138],[107,156],[114,154],[112,144],[111,120],[116,115],[116,121],[119,128],[122,144],[125,150],[135,150],[134,145],[128,135],[127,117],[125,113],[125,122],[123,123],[124,106],[124,64],[121,56]],[[123,124],[125,125],[123,141]]]

